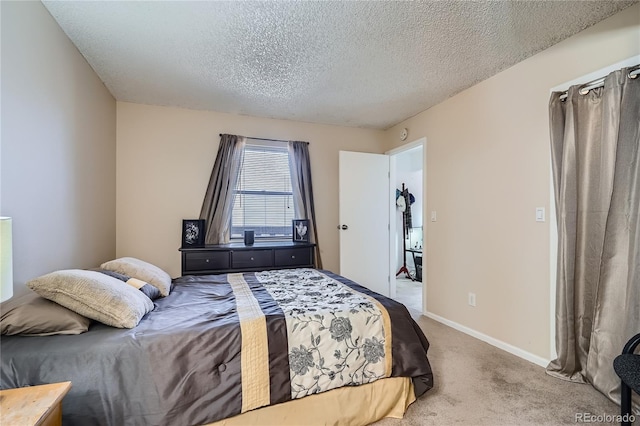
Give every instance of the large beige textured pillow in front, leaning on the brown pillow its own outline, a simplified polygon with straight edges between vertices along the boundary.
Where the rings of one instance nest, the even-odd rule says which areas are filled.
[[[118,328],[135,327],[154,307],[135,288],[95,271],[55,271],[27,282],[27,287],[80,315]]]

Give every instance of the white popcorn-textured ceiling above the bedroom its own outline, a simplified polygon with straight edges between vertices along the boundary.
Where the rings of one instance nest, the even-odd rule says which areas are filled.
[[[44,1],[119,101],[386,129],[635,1]]]

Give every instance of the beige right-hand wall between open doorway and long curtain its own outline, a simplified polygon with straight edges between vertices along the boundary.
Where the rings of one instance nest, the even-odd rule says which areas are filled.
[[[550,353],[550,89],[640,54],[635,5],[387,131],[427,138],[427,310]],[[477,306],[467,295],[477,295]]]

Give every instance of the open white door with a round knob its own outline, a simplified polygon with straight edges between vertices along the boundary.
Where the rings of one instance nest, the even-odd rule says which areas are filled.
[[[340,151],[340,274],[389,296],[389,156]]]

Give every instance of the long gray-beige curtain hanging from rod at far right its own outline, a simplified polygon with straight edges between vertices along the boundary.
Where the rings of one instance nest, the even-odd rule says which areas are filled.
[[[613,359],[640,331],[640,78],[609,74],[549,103],[558,221],[553,376],[615,402]]]

